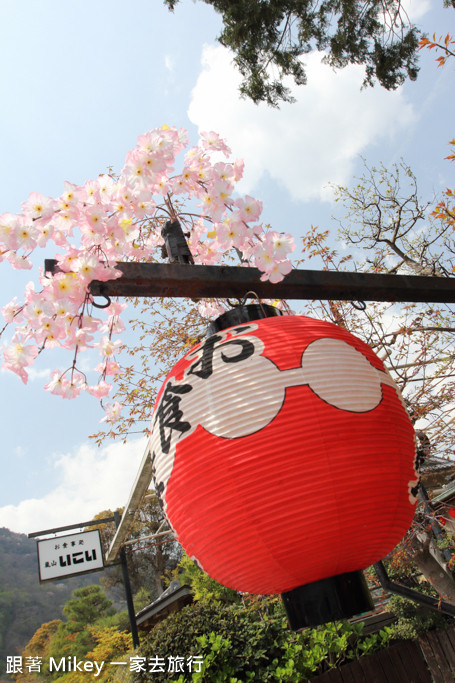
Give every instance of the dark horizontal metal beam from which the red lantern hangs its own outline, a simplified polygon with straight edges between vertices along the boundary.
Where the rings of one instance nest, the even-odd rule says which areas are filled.
[[[200,266],[180,263],[118,263],[122,276],[93,281],[94,296],[243,298],[254,292],[261,299],[322,299],[455,303],[455,278],[387,275],[344,271],[292,270],[278,283],[261,281],[257,268]],[[46,272],[58,271],[46,260]]]

